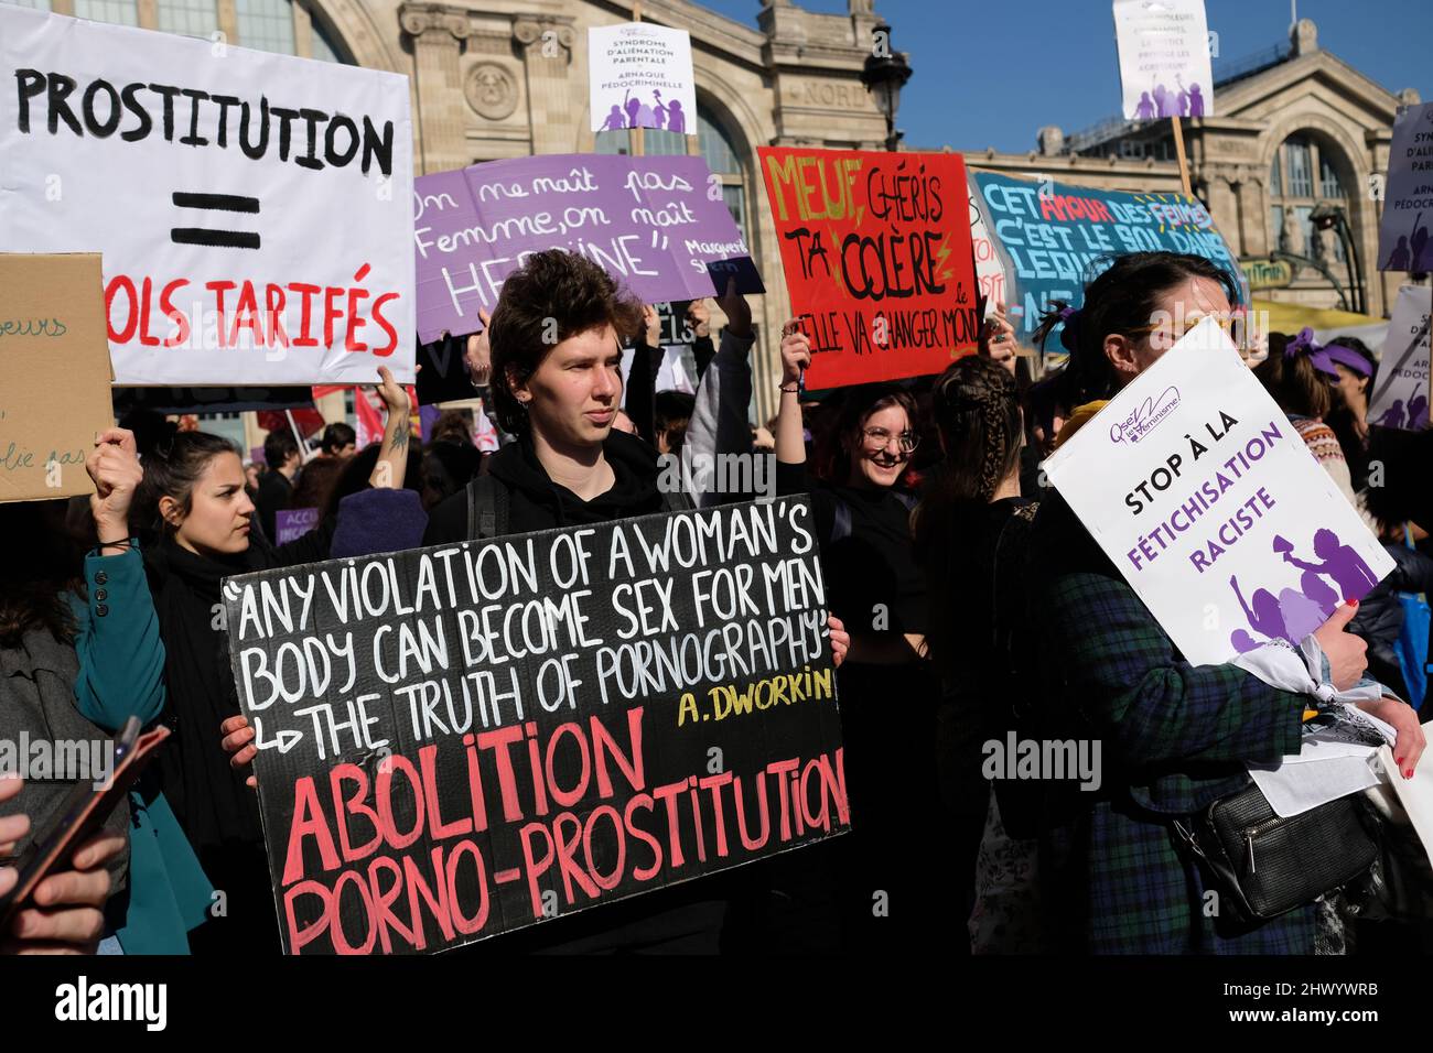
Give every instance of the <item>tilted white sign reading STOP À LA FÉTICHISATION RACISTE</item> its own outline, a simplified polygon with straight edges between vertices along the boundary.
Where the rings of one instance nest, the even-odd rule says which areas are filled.
[[[1393,569],[1212,318],[1042,467],[1194,665],[1297,646]]]

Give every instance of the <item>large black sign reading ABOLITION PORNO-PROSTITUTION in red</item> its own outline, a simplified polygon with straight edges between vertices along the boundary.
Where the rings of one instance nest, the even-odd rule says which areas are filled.
[[[444,950],[850,825],[805,497],[268,570],[225,605],[289,954]]]

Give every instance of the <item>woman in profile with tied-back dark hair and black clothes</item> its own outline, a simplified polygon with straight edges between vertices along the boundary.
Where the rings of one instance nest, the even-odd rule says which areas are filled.
[[[421,510],[417,494],[401,493],[408,395],[385,368],[381,374],[378,391],[388,423],[370,477],[375,489],[351,500],[381,504],[400,521],[407,517],[411,544],[421,532]],[[175,732],[158,766],[205,872],[225,893],[225,911],[193,934],[193,947],[196,953],[274,951],[274,898],[258,811],[219,744],[221,722],[239,712],[219,585],[246,570],[327,559],[340,523],[328,520],[278,547],[251,540],[254,504],[244,490],[239,454],[228,440],[202,431],[179,433],[145,458],[143,499],[162,537],[145,552],[145,569],[165,640],[165,722]]]

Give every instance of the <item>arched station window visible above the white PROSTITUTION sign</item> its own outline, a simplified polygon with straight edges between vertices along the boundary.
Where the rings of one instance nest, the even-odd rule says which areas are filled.
[[[142,21],[138,0],[0,0],[26,7],[75,14],[119,26],[143,26],[163,33],[209,40],[222,32],[231,44],[259,52],[297,54],[353,64],[340,42],[328,33],[308,3],[294,0],[234,0],[232,17],[219,0],[158,0],[153,24]],[[149,17],[149,16],[145,16]]]

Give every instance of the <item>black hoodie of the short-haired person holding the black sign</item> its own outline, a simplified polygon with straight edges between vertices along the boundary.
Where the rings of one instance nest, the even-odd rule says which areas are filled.
[[[662,510],[656,489],[656,450],[636,436],[612,431],[602,444],[612,474],[612,489],[585,501],[565,486],[553,483],[537,460],[530,437],[504,446],[489,458],[489,474],[507,487],[507,530],[526,534],[553,527],[610,523],[629,516],[648,516]],[[428,514],[424,544],[466,542],[467,490],[459,490]]]

